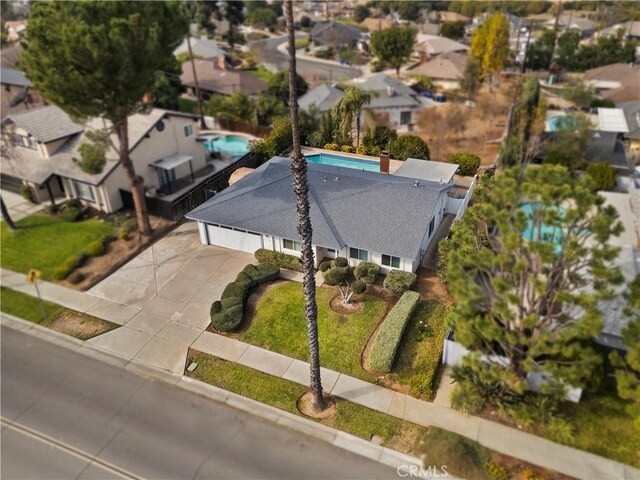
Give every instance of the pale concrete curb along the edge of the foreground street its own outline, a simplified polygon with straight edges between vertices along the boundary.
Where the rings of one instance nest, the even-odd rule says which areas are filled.
[[[264,403],[243,397],[237,393],[229,392],[219,387],[195,380],[186,375],[176,375],[160,370],[143,363],[135,362],[121,357],[112,352],[107,352],[83,340],[69,337],[63,333],[50,330],[38,324],[27,322],[17,317],[2,313],[0,325],[23,333],[28,333],[36,338],[54,345],[74,350],[82,355],[125,370],[139,377],[154,381],[160,381],[176,386],[184,391],[206,397],[218,403],[224,403],[229,407],[249,413],[265,421],[275,423],[308,437],[330,443],[331,445],[354,453],[361,457],[374,460],[395,469],[415,466],[420,468],[422,460],[411,455],[397,452],[390,448],[382,447],[368,442],[341,430],[322,425],[293,413],[285,412]],[[452,478],[452,477],[451,477]]]

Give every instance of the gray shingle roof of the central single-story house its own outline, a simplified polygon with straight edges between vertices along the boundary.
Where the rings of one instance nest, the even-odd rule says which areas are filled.
[[[296,239],[290,167],[289,159],[274,157],[186,217]],[[451,187],[315,163],[307,176],[314,244],[404,258],[418,255],[436,202]]]

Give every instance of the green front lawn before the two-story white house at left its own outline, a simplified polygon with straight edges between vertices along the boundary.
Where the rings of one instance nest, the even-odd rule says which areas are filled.
[[[51,280],[54,270],[68,257],[113,233],[113,227],[100,220],[67,222],[47,215],[31,215],[16,222],[16,226],[18,230],[10,232],[2,222],[0,265],[22,273],[36,268],[42,272],[43,280]]]

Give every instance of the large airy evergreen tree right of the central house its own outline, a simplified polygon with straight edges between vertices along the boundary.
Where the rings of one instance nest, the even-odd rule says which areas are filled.
[[[601,361],[591,341],[602,329],[598,301],[621,281],[608,241],[623,227],[603,204],[589,177],[574,181],[561,166],[493,179],[456,231],[473,244],[449,251],[455,338],[470,351],[458,372],[511,395],[530,373],[551,375],[549,393],[585,384]],[[459,231],[469,225],[486,235],[479,248],[475,232]]]

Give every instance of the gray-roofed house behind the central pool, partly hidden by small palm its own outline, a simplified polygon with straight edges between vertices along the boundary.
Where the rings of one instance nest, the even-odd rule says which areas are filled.
[[[377,73],[356,84],[372,93],[371,102],[363,109],[375,114],[378,123],[392,128],[412,128],[422,107],[414,90],[384,73]],[[320,112],[328,112],[342,95],[342,90],[336,85],[320,85],[300,97],[298,104],[302,109],[315,105]]]

